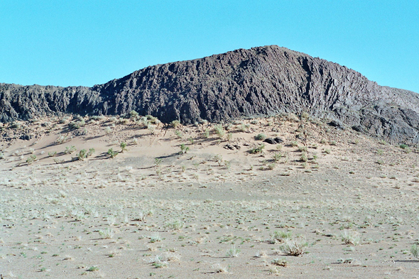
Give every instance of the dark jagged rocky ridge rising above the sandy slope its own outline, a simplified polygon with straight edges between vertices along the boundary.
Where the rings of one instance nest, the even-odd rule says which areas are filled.
[[[131,110],[183,124],[307,112],[391,143],[419,142],[419,95],[270,45],[146,67],[94,87],[0,84],[0,121]]]

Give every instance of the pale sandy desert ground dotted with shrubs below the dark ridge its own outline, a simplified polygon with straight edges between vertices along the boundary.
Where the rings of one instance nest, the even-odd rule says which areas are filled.
[[[133,113],[3,124],[0,150],[3,278],[419,277],[415,147]]]

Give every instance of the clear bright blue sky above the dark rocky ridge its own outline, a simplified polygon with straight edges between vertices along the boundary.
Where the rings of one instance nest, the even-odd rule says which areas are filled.
[[[0,82],[92,86],[260,45],[419,92],[418,0],[0,1]]]

